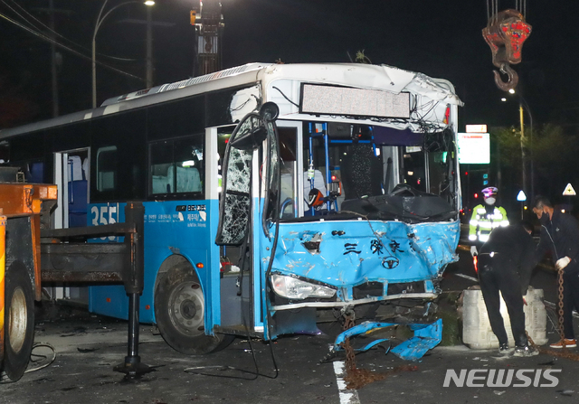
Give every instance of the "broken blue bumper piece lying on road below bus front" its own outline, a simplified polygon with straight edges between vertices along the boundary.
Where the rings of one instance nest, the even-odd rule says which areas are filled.
[[[372,322],[366,321],[362,324],[348,328],[343,333],[337,335],[336,341],[334,342],[334,352],[342,351],[343,343],[346,339],[355,337],[357,335],[363,335],[365,337],[370,333],[375,333],[381,329],[388,327],[401,325],[396,323],[382,323],[382,322]],[[438,319],[432,324],[405,324],[413,331],[414,335],[412,338],[407,339],[403,343],[399,343],[394,346],[394,348],[386,349],[386,353],[392,352],[394,355],[406,361],[418,361],[424,356],[426,352],[434,348],[436,345],[442,341],[442,319]],[[371,338],[371,336],[370,336]],[[378,338],[373,339],[370,343],[366,343],[360,348],[355,348],[355,351],[365,352],[370,348],[375,347],[379,343],[384,343],[389,341],[388,338]]]

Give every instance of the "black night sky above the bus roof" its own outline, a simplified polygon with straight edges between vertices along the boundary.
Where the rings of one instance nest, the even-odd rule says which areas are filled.
[[[207,0],[210,1],[210,0]],[[53,0],[56,31],[86,49],[101,0]],[[110,0],[110,5],[121,3]],[[193,27],[189,0],[157,0],[153,18],[155,84],[192,75]],[[491,52],[481,29],[487,23],[486,0],[223,0],[223,68],[251,61],[343,62],[364,51],[375,64],[388,64],[451,80],[465,102],[460,131],[467,123],[517,125],[517,101],[503,103],[505,94],[493,80]],[[48,0],[18,0],[26,11],[48,23]],[[19,22],[9,10],[13,0],[0,0],[0,14]],[[500,2],[499,9],[515,1]],[[576,123],[579,2],[527,0],[527,22],[533,33],[515,66],[536,123]],[[111,66],[145,76],[144,6],[125,5],[103,23],[97,51],[136,61]],[[50,117],[50,46],[0,19],[0,127]],[[59,39],[59,42],[65,42]],[[62,114],[90,108],[90,61],[58,50],[59,107]],[[349,56],[348,56],[349,54]],[[131,79],[98,68],[99,104],[109,97],[145,88]],[[11,100],[6,107],[6,99]],[[6,115],[8,114],[8,115]],[[8,116],[9,118],[6,118]]]

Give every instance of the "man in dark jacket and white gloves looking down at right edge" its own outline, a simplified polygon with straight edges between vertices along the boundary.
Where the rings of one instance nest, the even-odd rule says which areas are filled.
[[[536,197],[533,211],[541,221],[541,240],[536,248],[536,258],[543,258],[551,249],[555,268],[563,271],[563,325],[565,337],[551,348],[577,346],[573,332],[573,308],[579,310],[579,226],[573,216],[555,211],[544,196]]]

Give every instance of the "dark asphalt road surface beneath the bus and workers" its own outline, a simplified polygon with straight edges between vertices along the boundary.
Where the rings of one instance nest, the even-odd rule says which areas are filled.
[[[461,277],[458,274],[466,275]],[[476,282],[470,254],[460,250],[460,261],[448,269],[442,282],[445,291],[460,291]],[[532,285],[546,289],[547,299],[555,296],[555,275],[537,270]],[[550,290],[553,285],[553,290]],[[575,320],[579,325],[579,320]],[[550,341],[557,335],[547,326]],[[330,330],[331,331],[331,330]],[[358,368],[385,372],[384,380],[358,390],[346,390],[341,379],[342,357],[320,363],[332,339],[327,335],[296,335],[280,338],[272,345],[241,338],[223,352],[190,357],[169,348],[152,326],[141,326],[139,345],[142,362],[155,371],[138,380],[125,380],[112,371],[127,354],[127,323],[95,315],[39,322],[37,343],[50,343],[56,352],[52,364],[24,374],[21,381],[0,387],[2,403],[495,403],[576,402],[579,397],[579,362],[540,354],[531,358],[496,358],[494,350],[473,351],[464,345],[439,346],[421,362],[408,365],[384,349],[356,356]],[[279,372],[271,358],[271,348]],[[254,361],[252,350],[255,353]],[[39,347],[30,368],[48,363],[52,352]],[[472,384],[444,387],[447,372],[478,376]],[[527,387],[488,387],[489,371],[527,371],[533,383]],[[545,371],[554,370],[556,386]],[[560,370],[560,371],[559,371]],[[472,373],[474,371],[474,373]],[[556,372],[559,371],[559,372]],[[254,374],[260,373],[259,375]],[[204,374],[200,374],[204,373]],[[538,376],[536,376],[538,373]],[[508,373],[506,373],[508,374]],[[277,375],[277,377],[276,377]],[[481,378],[481,379],[480,379]],[[524,380],[513,379],[515,384]],[[459,383],[460,384],[460,383]],[[537,384],[537,386],[534,386]],[[551,383],[553,384],[553,383]]]

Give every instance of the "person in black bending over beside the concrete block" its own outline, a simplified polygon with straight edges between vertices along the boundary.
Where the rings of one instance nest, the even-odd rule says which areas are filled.
[[[480,290],[485,299],[490,327],[498,338],[498,352],[509,353],[508,336],[500,315],[500,294],[507,305],[515,339],[514,356],[538,354],[528,345],[525,332],[523,296],[527,294],[531,273],[535,268],[535,243],[530,223],[499,227],[490,233],[489,241],[479,251]]]

